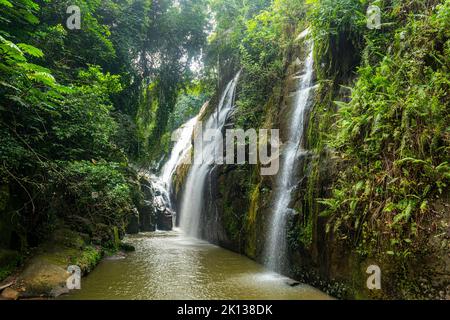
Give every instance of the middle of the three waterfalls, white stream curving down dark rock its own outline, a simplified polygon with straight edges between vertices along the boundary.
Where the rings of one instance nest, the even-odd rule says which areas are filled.
[[[234,94],[236,91],[236,85],[239,80],[240,72],[231,80],[225,91],[223,92],[217,111],[215,110],[206,121],[202,132],[208,130],[222,131],[226,120],[232,111],[234,105]],[[201,157],[203,161],[192,165],[189,170],[184,192],[181,200],[181,215],[180,229],[187,235],[192,237],[200,237],[200,219],[204,206],[204,192],[205,182],[208,178],[208,174],[214,168],[214,159],[218,156],[217,152],[220,151],[221,145],[218,145],[216,139],[209,139],[203,136],[202,139],[202,153]],[[223,152],[223,151],[220,151]],[[223,154],[220,154],[223,156]],[[197,155],[196,155],[197,157]]]

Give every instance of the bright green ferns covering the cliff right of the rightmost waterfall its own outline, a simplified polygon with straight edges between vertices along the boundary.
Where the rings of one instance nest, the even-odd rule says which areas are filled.
[[[313,17],[322,16],[324,24],[314,21],[315,27],[339,27],[325,17],[334,17],[334,8],[344,2],[334,6],[317,1],[316,6],[330,8],[316,7]],[[410,257],[428,217],[437,211],[436,203],[449,190],[450,1],[436,8],[417,3],[426,7],[420,15],[396,16],[385,10],[397,29],[365,34],[363,64],[350,101],[335,102],[336,122],[328,144],[343,169],[332,196],[320,203],[329,229],[334,227],[337,237],[352,234],[364,253]],[[416,10],[399,5],[404,12]],[[319,48],[317,41],[324,41],[320,32],[315,31]],[[388,34],[391,37],[385,38]]]

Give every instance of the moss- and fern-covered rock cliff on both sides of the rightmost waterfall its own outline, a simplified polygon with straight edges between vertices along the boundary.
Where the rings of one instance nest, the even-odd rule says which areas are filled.
[[[286,273],[337,297],[445,298],[450,2],[377,1],[381,29],[367,28],[368,4],[301,4],[298,20],[278,25],[271,18],[283,9],[273,6],[248,21],[233,122],[280,128],[283,141],[293,76],[305,55],[298,35],[309,26],[317,88]],[[255,45],[273,38],[282,44],[279,55]],[[204,237],[262,261],[274,177],[260,176],[258,166],[228,165],[211,179]],[[381,290],[367,289],[370,265],[381,268]]]

